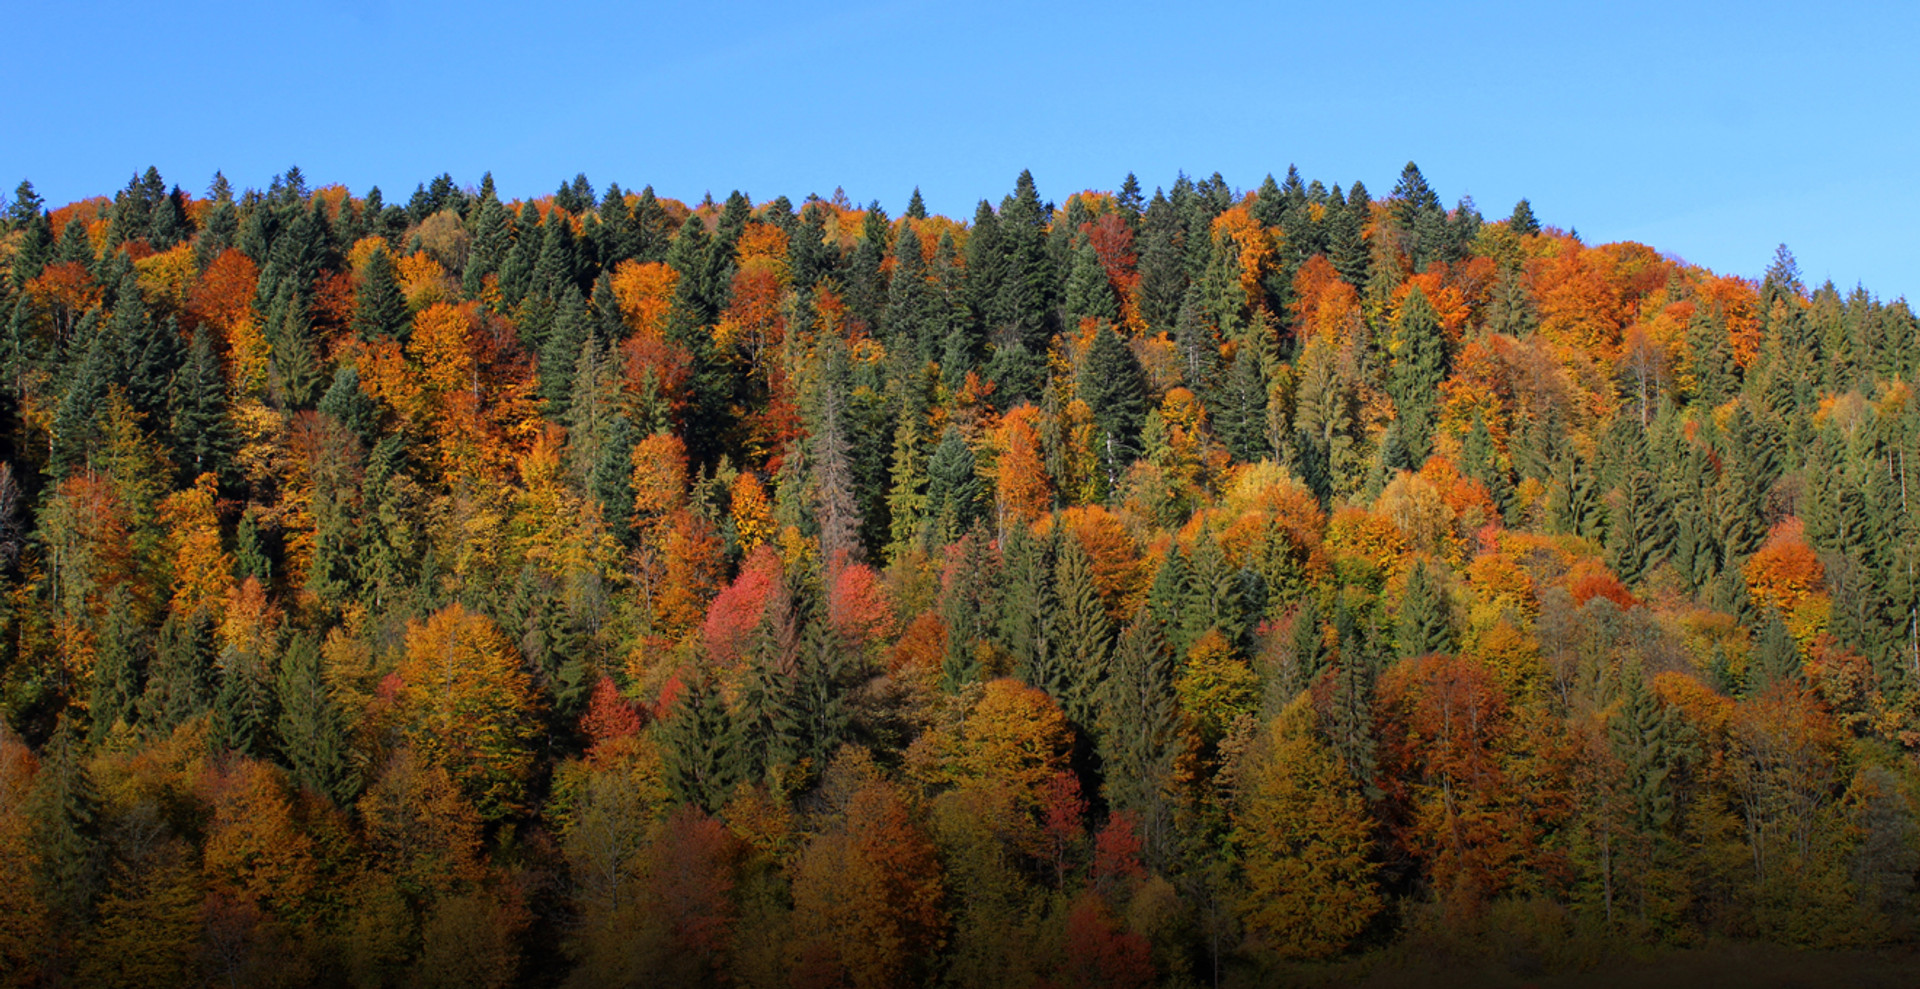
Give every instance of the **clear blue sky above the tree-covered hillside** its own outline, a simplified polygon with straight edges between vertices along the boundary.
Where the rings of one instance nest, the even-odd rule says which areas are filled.
[[[1419,161],[1490,219],[1920,300],[1920,8],[1908,4],[36,2],[8,12],[0,190],[111,194],[157,165],[288,165],[355,194],[507,198],[574,173],[662,196],[939,213],[1252,188],[1296,163],[1384,196]]]

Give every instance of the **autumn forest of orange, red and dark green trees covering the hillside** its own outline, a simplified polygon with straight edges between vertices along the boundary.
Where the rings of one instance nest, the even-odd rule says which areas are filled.
[[[996,200],[21,182],[0,985],[1920,943],[1905,302],[1413,163]]]

